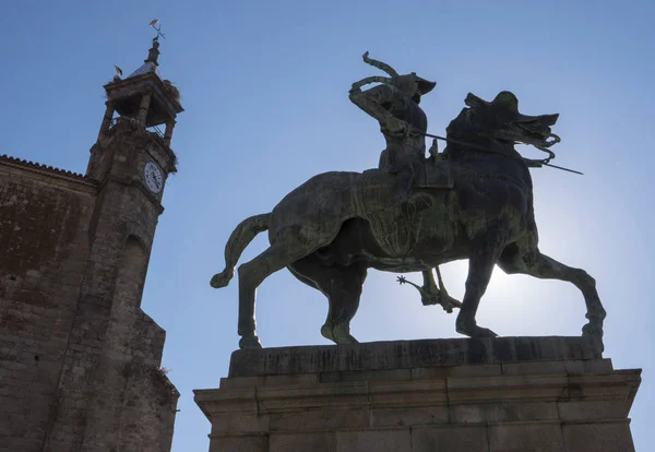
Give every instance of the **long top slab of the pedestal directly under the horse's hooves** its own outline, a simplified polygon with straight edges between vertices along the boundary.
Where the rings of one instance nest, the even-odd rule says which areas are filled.
[[[445,338],[354,345],[243,349],[229,377],[373,371],[522,361],[588,360],[600,353],[588,337]]]

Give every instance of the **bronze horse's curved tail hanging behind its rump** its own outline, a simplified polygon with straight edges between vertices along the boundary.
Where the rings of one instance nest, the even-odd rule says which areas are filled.
[[[270,213],[254,215],[243,219],[233,230],[225,246],[225,270],[212,277],[210,283],[212,287],[221,288],[229,284],[229,281],[235,276],[235,266],[237,266],[241,253],[258,234],[269,229],[270,218]]]

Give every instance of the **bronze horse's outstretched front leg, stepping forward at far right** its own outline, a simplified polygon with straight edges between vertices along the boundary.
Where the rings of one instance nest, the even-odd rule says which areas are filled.
[[[582,269],[567,266],[538,250],[535,252],[534,263],[529,265],[525,262],[517,249],[508,248],[501,254],[498,266],[505,273],[523,273],[541,279],[560,279],[573,284],[584,296],[586,305],[586,318],[588,323],[583,326],[583,335],[603,337],[603,320],[605,320],[605,309],[600,304],[600,297],[596,290],[596,281]]]

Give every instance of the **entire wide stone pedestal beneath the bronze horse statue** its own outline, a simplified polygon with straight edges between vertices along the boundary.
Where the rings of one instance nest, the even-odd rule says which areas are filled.
[[[584,337],[264,348],[195,402],[211,452],[629,452],[640,373]]]

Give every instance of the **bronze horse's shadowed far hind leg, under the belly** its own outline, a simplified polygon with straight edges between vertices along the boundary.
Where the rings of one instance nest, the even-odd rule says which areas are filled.
[[[322,265],[310,258],[291,265],[291,273],[322,292],[330,301],[327,318],[321,328],[323,337],[336,344],[356,344],[350,321],[359,308],[361,288],[367,276],[364,264]]]

